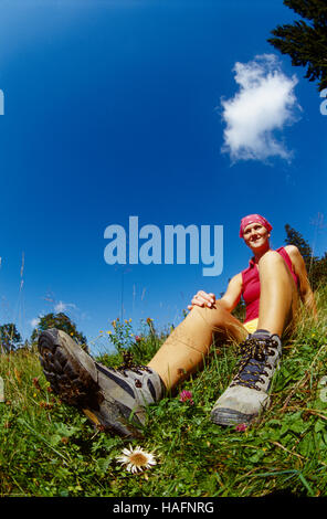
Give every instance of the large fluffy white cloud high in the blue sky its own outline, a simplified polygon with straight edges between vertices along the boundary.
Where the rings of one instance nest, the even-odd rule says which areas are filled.
[[[289,161],[293,152],[275,134],[298,120],[296,76],[286,76],[274,54],[238,62],[233,71],[240,89],[234,97],[221,99],[226,124],[222,151],[230,153],[233,162],[265,161],[274,156]]]

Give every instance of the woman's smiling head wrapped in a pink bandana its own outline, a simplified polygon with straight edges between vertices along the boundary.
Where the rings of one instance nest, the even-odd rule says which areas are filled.
[[[253,251],[270,247],[272,225],[260,214],[249,214],[241,220],[240,237]]]

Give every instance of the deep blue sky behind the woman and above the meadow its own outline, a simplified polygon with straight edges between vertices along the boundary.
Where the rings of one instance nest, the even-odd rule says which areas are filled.
[[[63,310],[94,349],[123,315],[178,324],[245,268],[240,219],[326,251],[327,116],[267,42],[282,0],[17,1],[0,7],[2,322]],[[239,65],[236,65],[236,63]],[[226,133],[228,130],[228,133]],[[223,271],[108,265],[110,224],[223,225]],[[323,215],[323,216],[321,216]]]

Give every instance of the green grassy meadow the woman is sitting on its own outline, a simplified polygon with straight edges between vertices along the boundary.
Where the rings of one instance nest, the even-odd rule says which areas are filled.
[[[6,403],[0,404],[0,496],[259,497],[275,492],[327,495],[327,292],[317,294],[319,319],[303,316],[284,348],[272,403],[245,432],[219,427],[210,410],[238,360],[233,347],[213,349],[204,370],[184,382],[194,404],[178,394],[148,409],[145,438],[126,442],[94,428],[50,390],[34,351],[0,356]],[[131,324],[116,322],[122,346],[146,363],[164,340],[148,322],[139,342]],[[116,462],[131,443],[155,451],[158,464],[133,475]]]

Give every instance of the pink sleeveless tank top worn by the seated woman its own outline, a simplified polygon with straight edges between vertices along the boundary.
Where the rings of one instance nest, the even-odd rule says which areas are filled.
[[[298,286],[298,278],[292,269],[291,257],[284,247],[276,250],[278,254],[285,260],[286,265],[288,266],[291,274],[295,280],[296,286]],[[250,260],[249,267],[245,271],[242,271],[242,296],[246,307],[246,314],[244,322],[249,320],[256,319],[259,317],[259,301],[260,301],[260,278],[259,269],[253,260]]]

